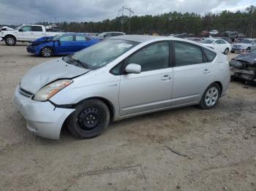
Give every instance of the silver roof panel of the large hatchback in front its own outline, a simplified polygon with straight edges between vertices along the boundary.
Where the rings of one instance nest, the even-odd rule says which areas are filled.
[[[172,36],[167,36],[168,39],[176,39]],[[121,36],[114,36],[110,39],[120,39],[120,40],[127,40],[127,41],[133,41],[133,42],[146,42],[149,40],[161,40],[161,39],[167,39],[166,36],[151,36],[151,35],[121,35]]]

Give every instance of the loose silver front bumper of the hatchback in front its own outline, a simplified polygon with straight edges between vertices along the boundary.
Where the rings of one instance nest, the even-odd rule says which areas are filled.
[[[14,105],[26,120],[26,126],[37,136],[59,140],[61,127],[69,114],[75,109],[56,108],[49,101],[34,101],[22,95],[17,87],[15,90]]]

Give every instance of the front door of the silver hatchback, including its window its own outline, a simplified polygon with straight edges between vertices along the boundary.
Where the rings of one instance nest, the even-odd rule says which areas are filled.
[[[119,103],[122,117],[170,106],[173,68],[170,68],[169,44],[154,43],[127,58],[126,65],[140,64],[141,73],[121,75]]]

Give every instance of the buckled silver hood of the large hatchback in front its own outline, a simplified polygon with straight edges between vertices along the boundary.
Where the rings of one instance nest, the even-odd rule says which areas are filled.
[[[56,79],[72,79],[86,74],[88,71],[90,70],[74,66],[64,62],[62,58],[58,58],[39,64],[27,71],[20,81],[20,88],[35,94],[39,89]]]

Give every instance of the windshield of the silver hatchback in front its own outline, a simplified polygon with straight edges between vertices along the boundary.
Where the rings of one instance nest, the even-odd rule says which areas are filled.
[[[137,44],[138,42],[108,39],[81,50],[80,52],[76,52],[69,58],[64,59],[64,61],[68,63],[75,61],[83,65],[86,69],[99,69],[115,60],[132,47],[135,47]]]

